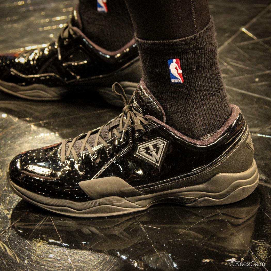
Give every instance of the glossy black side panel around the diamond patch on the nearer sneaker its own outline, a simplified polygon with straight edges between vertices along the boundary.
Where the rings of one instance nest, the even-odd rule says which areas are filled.
[[[220,157],[221,154],[225,157],[242,140],[242,137],[246,136],[246,132],[247,125],[240,114],[232,127],[215,143],[208,146],[197,146],[174,136],[165,128],[157,125],[137,138],[133,136],[133,143],[129,151],[120,157],[117,162],[112,163],[99,177],[118,176],[138,190],[146,187],[151,188],[153,183],[157,182],[162,184],[188,178],[204,172],[215,163],[218,163],[222,158]],[[138,144],[157,137],[169,141],[169,147],[161,169],[134,156],[134,151]],[[249,157],[251,161],[250,166],[252,164],[251,157],[253,155]],[[244,168],[243,171],[249,169],[249,167]],[[233,166],[231,172],[234,172],[234,169],[235,167]],[[193,184],[198,183],[194,182]]]

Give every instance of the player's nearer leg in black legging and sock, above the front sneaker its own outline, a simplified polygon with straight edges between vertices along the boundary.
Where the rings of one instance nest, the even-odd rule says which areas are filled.
[[[231,109],[207,0],[125,1],[135,28],[144,82],[164,108],[167,124],[193,138],[217,131]],[[180,60],[183,83],[171,82],[171,59]]]

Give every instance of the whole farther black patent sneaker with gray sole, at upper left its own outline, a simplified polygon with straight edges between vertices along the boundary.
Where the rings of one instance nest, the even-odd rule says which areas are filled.
[[[0,55],[0,89],[27,99],[56,100],[86,89],[122,106],[112,94],[112,84],[120,82],[131,97],[141,73],[134,40],[118,51],[102,49],[82,33],[76,9],[57,41],[41,49]]]

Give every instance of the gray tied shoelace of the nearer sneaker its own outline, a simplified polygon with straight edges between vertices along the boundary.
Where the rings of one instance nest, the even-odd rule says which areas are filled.
[[[116,91],[116,86],[121,90],[121,93],[118,93]],[[144,120],[143,115],[138,113],[133,106],[130,104],[130,101],[128,101],[128,98],[124,92],[124,89],[119,83],[114,83],[112,86],[112,92],[117,95],[124,103],[124,108],[122,109],[122,114],[121,116],[117,116],[114,118],[111,122],[109,122],[108,128],[108,139],[110,140],[112,138],[112,133],[114,133],[118,138],[121,138],[121,141],[123,140],[124,133],[127,130],[129,126],[133,127],[135,131],[145,131],[141,123],[143,124],[148,124],[146,120]],[[124,126],[123,126],[124,124]],[[99,129],[93,148],[98,146],[98,142],[100,141],[102,145],[104,145],[105,149],[108,150],[111,148],[110,144],[107,143],[102,137],[101,137],[101,132],[102,129],[104,128],[106,124],[102,125],[101,128]],[[116,129],[116,126],[119,125],[119,131]],[[120,133],[122,132],[122,134]],[[87,143],[89,136],[93,133],[93,131],[89,131],[86,136],[83,139],[79,139],[82,137],[82,135],[78,135],[77,137],[73,138],[72,141],[69,142],[69,139],[65,139],[62,141],[61,145],[61,163],[64,163],[66,160],[66,156],[70,156],[70,153],[74,157],[75,161],[79,161],[79,157],[76,154],[75,149],[73,148],[73,145],[77,140],[81,140],[82,146],[80,149],[80,153],[82,153],[85,149],[85,147],[88,149],[90,157],[94,158],[96,156],[96,152],[93,151],[93,148],[89,146]],[[66,145],[68,145],[68,149],[66,152]]]

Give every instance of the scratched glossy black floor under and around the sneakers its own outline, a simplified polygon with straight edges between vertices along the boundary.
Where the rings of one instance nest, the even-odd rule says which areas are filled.
[[[0,0],[1,52],[49,43],[75,4],[13,1]],[[120,109],[87,93],[61,102],[0,93],[0,270],[271,270],[271,0],[209,5],[228,97],[252,132],[256,191],[227,206],[161,204],[103,219],[43,211],[8,187],[11,158],[98,127]],[[231,267],[232,260],[265,267]]]

